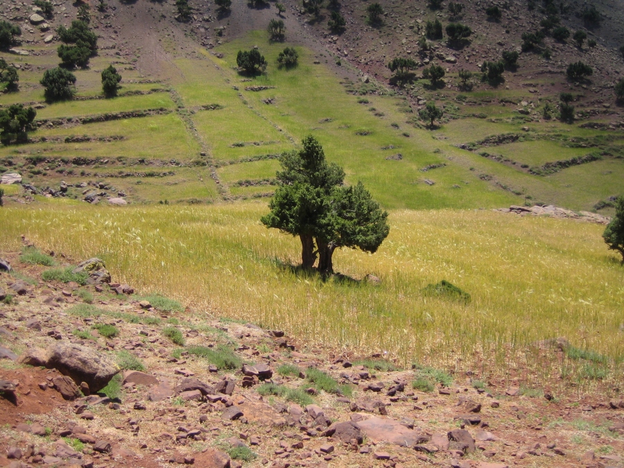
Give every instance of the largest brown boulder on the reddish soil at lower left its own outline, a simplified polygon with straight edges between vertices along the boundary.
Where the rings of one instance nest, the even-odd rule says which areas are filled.
[[[102,390],[119,372],[119,366],[94,349],[71,343],[56,343],[48,349],[46,367],[70,376],[78,385],[85,382],[91,392]]]

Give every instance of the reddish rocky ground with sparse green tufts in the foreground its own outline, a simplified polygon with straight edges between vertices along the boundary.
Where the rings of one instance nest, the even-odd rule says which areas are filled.
[[[35,252],[1,254],[0,466],[622,466],[623,401],[309,347]]]

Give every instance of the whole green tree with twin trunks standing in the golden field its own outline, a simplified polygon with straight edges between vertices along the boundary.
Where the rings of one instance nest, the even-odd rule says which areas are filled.
[[[345,172],[327,162],[314,137],[305,137],[301,150],[283,153],[279,162],[279,187],[261,221],[299,236],[303,268],[313,268],[318,258],[318,271],[332,273],[333,252],[341,247],[376,252],[390,232],[388,214],[361,182],[343,185]]]

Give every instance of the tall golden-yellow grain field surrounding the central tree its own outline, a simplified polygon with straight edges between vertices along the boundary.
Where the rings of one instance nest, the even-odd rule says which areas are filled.
[[[264,203],[5,208],[0,248],[17,250],[26,234],[76,261],[101,257],[115,281],[141,293],[309,343],[387,353],[404,365],[486,373],[528,365],[531,379],[545,381],[571,372],[575,361],[544,366],[526,345],[564,337],[608,356],[609,379],[620,379],[624,268],[607,251],[603,226],[490,211],[392,211],[379,252],[335,254],[343,275],[382,279],[372,286],[295,272],[298,241],[263,227],[265,212]],[[442,279],[471,302],[423,294]]]

